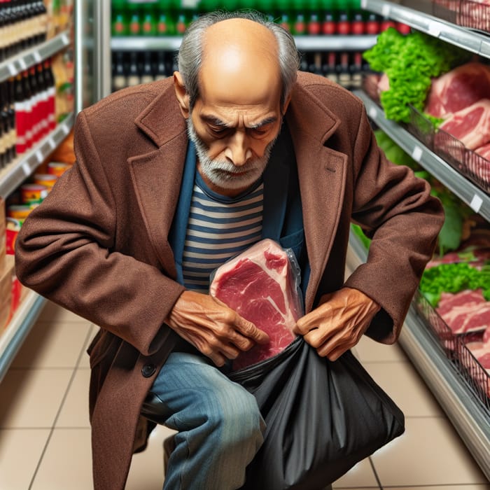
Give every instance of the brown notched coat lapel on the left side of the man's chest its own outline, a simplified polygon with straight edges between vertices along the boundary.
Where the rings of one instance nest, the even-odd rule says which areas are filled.
[[[166,90],[135,120],[158,148],[129,158],[128,165],[155,253],[165,272],[175,278],[176,267],[168,237],[179,200],[188,139],[173,86],[165,84],[164,87]]]

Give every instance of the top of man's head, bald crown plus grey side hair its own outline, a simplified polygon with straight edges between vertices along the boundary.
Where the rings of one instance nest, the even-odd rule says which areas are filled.
[[[293,37],[257,12],[211,12],[186,30],[179,49],[179,78],[185,85],[190,109],[201,94],[201,71],[228,85],[241,81],[247,90],[262,81],[276,85],[279,73],[281,104],[293,89],[299,68]],[[204,66],[206,65],[206,66]],[[256,80],[260,75],[261,80]],[[273,76],[274,79],[270,78]],[[245,83],[249,82],[249,83]],[[261,92],[260,87],[256,87]]]

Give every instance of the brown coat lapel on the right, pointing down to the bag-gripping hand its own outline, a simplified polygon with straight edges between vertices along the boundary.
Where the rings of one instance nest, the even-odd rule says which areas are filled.
[[[328,148],[339,120],[310,92],[296,85],[287,114],[295,148],[311,273],[305,297],[313,307],[337,229],[345,185],[346,155]]]

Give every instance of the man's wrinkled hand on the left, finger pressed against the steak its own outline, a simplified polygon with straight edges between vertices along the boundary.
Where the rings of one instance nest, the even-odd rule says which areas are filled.
[[[165,323],[200,352],[222,366],[269,336],[210,295],[184,291]]]

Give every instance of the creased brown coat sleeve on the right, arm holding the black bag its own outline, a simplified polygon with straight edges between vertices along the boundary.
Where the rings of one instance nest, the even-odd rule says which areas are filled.
[[[353,162],[351,217],[372,241],[367,261],[349,276],[346,286],[362,290],[382,307],[367,335],[394,342],[432,257],[444,214],[427,181],[386,160],[365,109]]]

